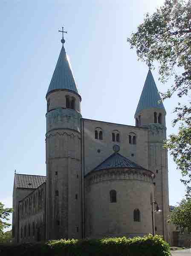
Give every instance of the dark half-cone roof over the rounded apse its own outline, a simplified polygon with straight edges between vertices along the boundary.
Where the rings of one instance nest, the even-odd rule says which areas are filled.
[[[135,169],[145,169],[142,166],[129,160],[127,157],[123,157],[119,153],[113,153],[104,162],[99,164],[93,171],[100,171],[103,169],[113,169],[113,168],[135,168]]]

